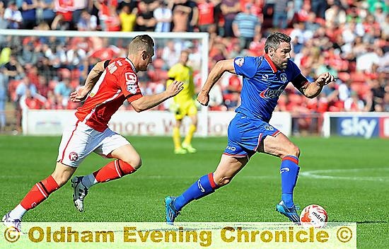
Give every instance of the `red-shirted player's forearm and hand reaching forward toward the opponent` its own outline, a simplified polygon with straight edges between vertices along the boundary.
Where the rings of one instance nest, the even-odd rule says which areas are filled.
[[[182,81],[173,81],[169,86],[166,87],[166,91],[154,95],[146,95],[138,98],[131,102],[132,107],[137,112],[149,110],[167,100],[168,98],[174,97],[184,88]]]

